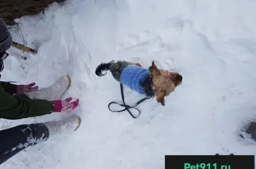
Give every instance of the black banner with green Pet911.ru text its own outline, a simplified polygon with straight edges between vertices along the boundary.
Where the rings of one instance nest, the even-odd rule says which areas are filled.
[[[253,155],[166,155],[165,169],[255,169]]]

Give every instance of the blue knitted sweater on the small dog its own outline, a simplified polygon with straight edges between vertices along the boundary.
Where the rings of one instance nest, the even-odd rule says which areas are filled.
[[[142,86],[140,86],[140,82],[144,81],[147,75],[150,74],[148,69],[128,65],[124,68],[124,71],[121,74],[120,83],[129,86],[132,90],[136,90],[140,94],[144,94],[144,90]]]

